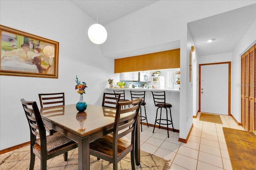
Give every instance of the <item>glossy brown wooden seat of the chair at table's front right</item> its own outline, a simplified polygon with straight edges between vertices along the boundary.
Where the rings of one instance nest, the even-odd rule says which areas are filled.
[[[90,149],[102,152],[104,154],[113,156],[112,152],[113,136],[112,134],[106,135],[90,143]],[[125,138],[118,139],[117,154],[121,154],[126,148],[132,146],[131,141]]]

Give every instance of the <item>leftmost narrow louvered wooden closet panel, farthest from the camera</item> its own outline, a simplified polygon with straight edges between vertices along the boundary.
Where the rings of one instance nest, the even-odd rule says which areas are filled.
[[[245,68],[244,68],[244,56],[241,56],[241,125],[244,127],[244,76],[245,76]]]

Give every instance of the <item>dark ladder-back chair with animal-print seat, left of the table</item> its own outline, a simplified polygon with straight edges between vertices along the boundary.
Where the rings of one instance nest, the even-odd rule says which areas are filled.
[[[36,102],[20,100],[28,119],[30,129],[30,170],[34,169],[35,156],[40,159],[41,170],[46,170],[47,160],[64,155],[64,160],[68,160],[68,151],[78,147],[78,144],[68,137],[54,133],[46,137],[44,123]],[[39,139],[36,139],[38,137]]]

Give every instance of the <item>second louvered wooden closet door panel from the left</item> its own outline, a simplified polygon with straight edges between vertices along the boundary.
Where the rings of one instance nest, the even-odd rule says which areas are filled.
[[[249,51],[244,56],[244,129],[249,125]]]

